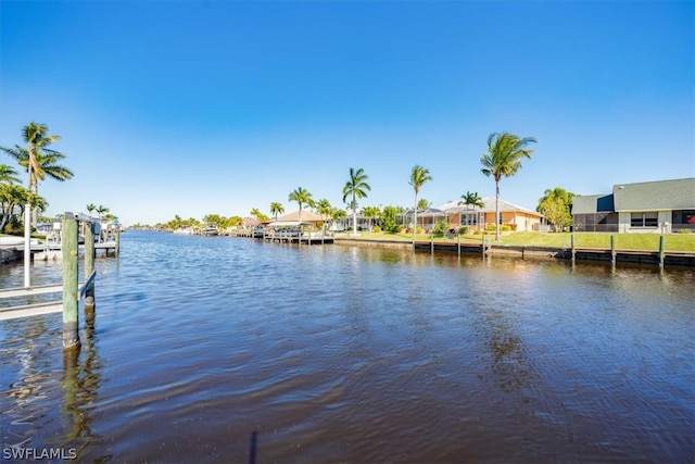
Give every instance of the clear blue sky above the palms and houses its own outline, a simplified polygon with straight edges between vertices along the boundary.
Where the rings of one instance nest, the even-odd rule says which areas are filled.
[[[435,206],[492,197],[508,130],[539,143],[502,198],[535,209],[695,176],[694,30],[692,1],[2,0],[0,146],[47,124],[75,173],[47,214],[131,225],[342,205],[351,166],[361,205],[412,205],[416,164]]]

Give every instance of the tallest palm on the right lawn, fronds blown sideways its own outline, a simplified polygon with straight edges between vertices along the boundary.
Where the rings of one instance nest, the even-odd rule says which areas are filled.
[[[492,133],[488,137],[488,152],[480,158],[480,163],[481,172],[495,179],[495,240],[500,240],[500,180],[521,168],[521,159],[530,159],[535,152],[527,146],[535,142],[533,137],[519,138],[509,133]]]

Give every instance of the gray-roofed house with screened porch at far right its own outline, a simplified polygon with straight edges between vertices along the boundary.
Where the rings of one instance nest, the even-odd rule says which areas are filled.
[[[695,231],[695,177],[617,184],[612,193],[572,199],[577,231]]]

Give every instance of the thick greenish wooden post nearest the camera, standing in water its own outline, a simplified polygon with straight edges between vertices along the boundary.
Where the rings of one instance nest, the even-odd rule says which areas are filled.
[[[65,213],[61,234],[63,253],[63,349],[79,348],[77,314],[77,221]]]

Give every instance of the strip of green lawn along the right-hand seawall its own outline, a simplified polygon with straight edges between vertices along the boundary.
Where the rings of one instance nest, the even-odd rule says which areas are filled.
[[[358,233],[358,240],[395,240],[410,241],[412,234],[388,234],[388,233]],[[574,234],[574,247],[577,248],[602,248],[610,249],[610,235],[602,233],[577,233]],[[339,238],[352,239],[350,234],[341,234]],[[619,250],[658,250],[659,235],[656,234],[615,234],[616,248]],[[416,240],[429,241],[429,234],[418,234]],[[462,243],[480,243],[481,235],[460,236]],[[535,247],[559,247],[569,248],[571,243],[570,234],[554,233],[508,233],[500,237],[500,241],[494,241],[494,234],[485,234],[485,241],[492,240],[492,243],[516,244],[516,246],[535,246]],[[456,243],[456,237],[435,237],[435,242]],[[695,234],[668,234],[665,238],[665,249],[667,251],[687,251],[695,252]]]

